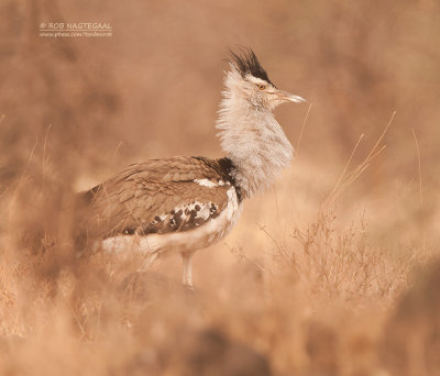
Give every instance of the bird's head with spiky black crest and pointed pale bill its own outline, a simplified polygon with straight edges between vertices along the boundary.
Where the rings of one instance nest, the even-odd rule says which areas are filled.
[[[235,99],[246,100],[256,108],[270,111],[285,102],[306,102],[299,96],[276,88],[252,49],[241,54],[231,52],[230,67],[226,86],[229,95]]]

